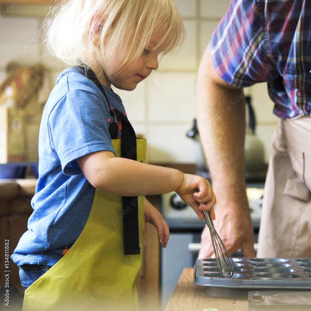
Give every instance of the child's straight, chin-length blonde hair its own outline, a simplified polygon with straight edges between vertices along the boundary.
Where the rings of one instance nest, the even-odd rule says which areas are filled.
[[[135,61],[143,50],[176,51],[185,39],[182,19],[173,0],[64,0],[44,22],[49,53],[66,65],[78,60],[102,69],[123,54],[119,68]],[[163,33],[159,42],[151,38]],[[154,44],[154,45],[152,45]],[[125,55],[124,55],[125,54]]]

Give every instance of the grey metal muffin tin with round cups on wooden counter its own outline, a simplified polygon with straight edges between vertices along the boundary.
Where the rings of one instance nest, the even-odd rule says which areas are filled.
[[[233,298],[248,290],[311,290],[311,258],[233,258],[236,274],[221,277],[216,259],[197,259],[193,282],[208,295]]]

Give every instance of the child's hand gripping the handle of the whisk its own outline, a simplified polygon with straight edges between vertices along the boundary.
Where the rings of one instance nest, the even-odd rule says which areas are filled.
[[[183,181],[176,193],[183,202],[193,208],[201,220],[204,220],[203,210],[210,211],[211,219],[215,219],[213,206],[216,203],[216,197],[208,180],[201,176],[184,174]],[[199,202],[204,204],[200,205]]]

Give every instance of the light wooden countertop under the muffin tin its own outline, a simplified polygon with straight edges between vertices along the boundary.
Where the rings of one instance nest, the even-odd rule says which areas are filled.
[[[208,308],[218,311],[248,311],[248,301],[210,297],[206,286],[193,284],[193,268],[183,269],[165,311],[203,311]]]

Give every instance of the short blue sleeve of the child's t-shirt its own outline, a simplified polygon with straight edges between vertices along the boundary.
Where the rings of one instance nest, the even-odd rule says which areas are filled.
[[[66,175],[81,174],[77,158],[95,151],[112,151],[109,108],[87,91],[68,92],[49,115],[49,139]]]

